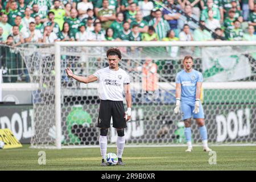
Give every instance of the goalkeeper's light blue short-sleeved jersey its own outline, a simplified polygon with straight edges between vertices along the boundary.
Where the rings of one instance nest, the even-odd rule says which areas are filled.
[[[181,84],[181,102],[195,102],[197,82],[203,82],[203,75],[195,69],[190,73],[185,70],[177,73],[176,83]]]

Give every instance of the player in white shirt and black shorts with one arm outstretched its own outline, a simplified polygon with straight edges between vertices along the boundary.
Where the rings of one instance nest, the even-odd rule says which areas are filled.
[[[100,111],[98,115],[97,127],[100,127],[100,149],[102,162],[101,166],[106,166],[104,158],[107,151],[107,134],[110,127],[110,119],[113,119],[113,127],[117,129],[117,156],[118,165],[125,165],[122,162],[123,148],[125,148],[125,128],[126,122],[131,118],[131,92],[130,77],[121,68],[118,67],[122,59],[121,52],[117,48],[110,48],[106,52],[109,67],[98,70],[88,77],[74,75],[71,69],[66,68],[68,77],[88,84],[93,81],[100,81],[98,92],[100,95]],[[123,106],[123,90],[127,103],[127,111]]]

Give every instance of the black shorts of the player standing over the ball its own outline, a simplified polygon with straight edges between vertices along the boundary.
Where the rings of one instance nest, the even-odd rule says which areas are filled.
[[[101,100],[97,127],[109,128],[111,117],[114,128],[124,129],[127,127],[124,118],[125,107],[123,107],[123,101]]]

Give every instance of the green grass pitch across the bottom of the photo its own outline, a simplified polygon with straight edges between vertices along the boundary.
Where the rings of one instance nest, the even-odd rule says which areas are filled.
[[[0,150],[2,170],[256,170],[256,146],[211,147],[216,151],[217,164],[209,164],[208,152],[194,147],[191,153],[186,147],[126,147],[123,162],[126,166],[100,166],[100,148],[43,150],[46,165],[38,164],[38,152],[28,145],[22,148]],[[108,148],[116,153],[116,148]]]

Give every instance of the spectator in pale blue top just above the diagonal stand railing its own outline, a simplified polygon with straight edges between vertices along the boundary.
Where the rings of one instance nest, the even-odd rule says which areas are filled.
[[[197,20],[197,21],[199,20],[199,18],[197,18],[197,16],[192,13],[192,7],[191,7],[191,5],[186,5],[184,11],[185,11],[185,13],[186,13],[189,17],[191,17],[191,18],[193,18],[193,19],[195,19],[195,20]],[[186,18],[185,20],[179,18],[179,20],[178,20],[178,28],[179,28],[179,29],[183,28],[183,27],[184,27],[184,24],[188,24],[188,26],[191,28],[191,31],[192,31],[192,32],[198,27],[197,24],[194,23],[190,18]]]

